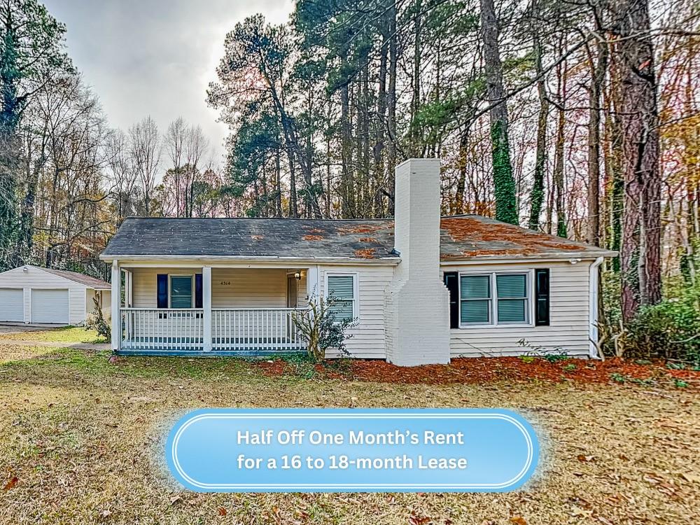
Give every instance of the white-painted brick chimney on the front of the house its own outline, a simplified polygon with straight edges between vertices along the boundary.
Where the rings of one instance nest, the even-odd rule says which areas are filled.
[[[401,262],[386,290],[386,359],[449,363],[449,293],[440,279],[440,160],[396,167],[395,239]]]

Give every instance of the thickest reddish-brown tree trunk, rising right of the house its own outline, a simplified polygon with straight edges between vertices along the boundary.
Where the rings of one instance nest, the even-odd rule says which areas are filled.
[[[624,167],[622,316],[661,300],[661,177],[654,46],[647,0],[616,0],[615,61]]]

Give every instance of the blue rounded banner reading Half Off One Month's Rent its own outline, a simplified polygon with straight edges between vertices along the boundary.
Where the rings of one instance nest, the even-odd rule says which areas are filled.
[[[531,477],[539,446],[501,409],[201,409],[165,453],[198,492],[502,492]]]

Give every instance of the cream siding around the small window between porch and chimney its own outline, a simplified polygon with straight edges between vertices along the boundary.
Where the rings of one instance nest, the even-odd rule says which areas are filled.
[[[346,348],[356,358],[384,359],[384,290],[393,278],[393,266],[321,266],[318,281],[325,295],[326,274],[356,274],[358,279],[359,320],[350,330],[353,336]],[[337,357],[337,352],[328,352],[328,357]]]

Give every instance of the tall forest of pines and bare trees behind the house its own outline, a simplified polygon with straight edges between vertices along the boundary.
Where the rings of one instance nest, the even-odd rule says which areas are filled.
[[[112,129],[65,32],[0,0],[0,269],[104,276],[132,215],[391,216],[395,165],[439,157],[443,214],[620,251],[609,324],[697,286],[692,0],[297,0],[225,38],[202,93],[230,128],[222,160],[181,118]]]

